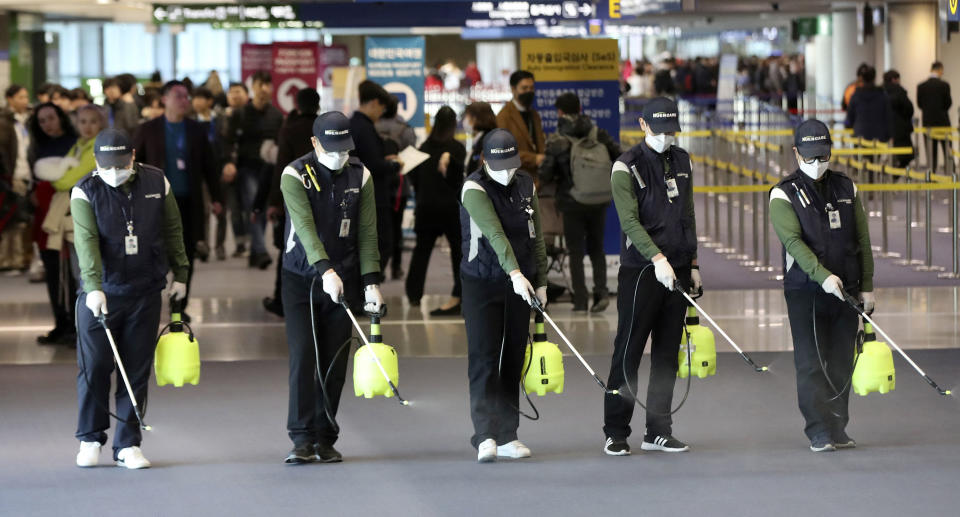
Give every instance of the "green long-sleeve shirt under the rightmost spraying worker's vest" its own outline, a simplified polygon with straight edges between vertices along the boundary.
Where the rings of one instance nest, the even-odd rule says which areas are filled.
[[[816,182],[814,185],[821,196],[826,195],[824,190],[826,185],[823,182]],[[873,250],[870,248],[870,227],[859,193],[854,196],[853,211],[857,224],[857,243],[860,246],[860,285],[864,292],[871,292],[873,291]],[[800,219],[797,218],[787,193],[779,187],[770,191],[770,222],[787,250],[787,260],[789,261],[789,257],[792,257],[811,280],[822,285],[823,281],[833,273],[820,263],[816,253],[803,242]]]

